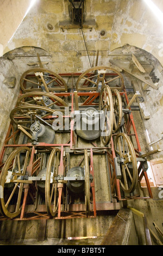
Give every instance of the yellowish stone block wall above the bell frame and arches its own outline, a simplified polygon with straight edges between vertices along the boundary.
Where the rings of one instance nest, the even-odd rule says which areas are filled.
[[[155,1],[162,8],[160,2]],[[143,0],[86,0],[86,21],[96,27],[85,28],[85,38],[95,65],[108,63],[108,53],[125,44],[150,52],[163,63],[163,31],[160,21]],[[69,20],[67,0],[40,0],[29,11],[4,53],[22,46],[41,47],[53,54],[55,69],[61,72],[90,68],[81,29],[62,29],[60,22]],[[51,29],[48,24],[51,24]],[[101,31],[105,35],[101,35]]]

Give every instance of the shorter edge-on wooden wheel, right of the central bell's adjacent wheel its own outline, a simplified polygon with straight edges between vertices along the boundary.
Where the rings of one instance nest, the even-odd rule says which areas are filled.
[[[113,133],[116,133],[120,129],[121,121],[122,121],[122,100],[121,95],[117,89],[111,89],[112,92],[112,100],[114,107],[114,127]]]

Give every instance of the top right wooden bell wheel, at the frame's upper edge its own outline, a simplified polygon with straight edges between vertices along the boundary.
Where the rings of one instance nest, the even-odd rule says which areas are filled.
[[[104,70],[104,71],[103,71]],[[108,77],[106,77],[106,71],[108,70],[108,73],[110,71],[112,71],[115,75],[114,78],[109,79]],[[90,74],[89,74],[90,73]],[[95,75],[95,73],[97,75]],[[87,76],[87,77],[86,77]],[[92,78],[96,77],[97,81],[93,81]],[[76,83],[76,90],[97,90],[98,87],[98,82],[101,81],[102,82],[102,87],[106,84],[110,85],[111,82],[113,82],[114,80],[119,79],[121,80],[121,87],[119,87],[119,90],[122,90],[124,88],[124,80],[123,80],[123,76],[121,75],[120,72],[118,72],[116,69],[111,68],[110,66],[95,66],[91,69],[86,70],[85,72],[83,72],[82,75],[79,76],[77,83]],[[85,79],[85,82],[83,83],[83,80]],[[92,79],[92,80],[91,80]],[[105,81],[106,80],[106,81]],[[82,86],[80,85],[80,83],[83,83],[82,86],[85,86],[85,88],[82,88]],[[88,87],[89,84],[92,83],[94,87]],[[117,88],[117,87],[112,87],[112,88]]]

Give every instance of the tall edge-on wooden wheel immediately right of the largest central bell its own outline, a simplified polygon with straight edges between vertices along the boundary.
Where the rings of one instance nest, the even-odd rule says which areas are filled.
[[[103,86],[99,96],[99,110],[104,111],[102,129],[102,142],[107,145],[110,142],[113,125],[114,125],[114,107],[112,101],[112,94],[109,86]]]

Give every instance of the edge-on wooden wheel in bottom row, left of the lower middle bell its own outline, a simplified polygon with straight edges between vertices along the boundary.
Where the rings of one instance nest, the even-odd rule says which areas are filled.
[[[54,217],[58,210],[58,168],[60,164],[60,150],[53,149],[49,156],[46,182],[45,182],[45,202],[48,215]]]

